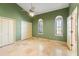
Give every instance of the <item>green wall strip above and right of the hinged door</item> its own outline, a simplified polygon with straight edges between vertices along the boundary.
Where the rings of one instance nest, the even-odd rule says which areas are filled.
[[[69,8],[69,14],[71,15],[75,7],[78,8],[78,39],[77,39],[77,55],[79,56],[79,3],[71,3]]]

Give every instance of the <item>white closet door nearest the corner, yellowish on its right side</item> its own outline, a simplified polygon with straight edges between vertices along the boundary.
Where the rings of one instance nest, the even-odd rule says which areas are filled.
[[[32,37],[32,23],[21,21],[21,40]]]

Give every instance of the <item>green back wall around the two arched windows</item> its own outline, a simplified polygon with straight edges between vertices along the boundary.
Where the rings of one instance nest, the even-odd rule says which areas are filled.
[[[55,17],[63,16],[63,36],[55,36]],[[69,8],[64,8],[56,11],[47,12],[44,14],[37,15],[33,18],[33,36],[39,36],[49,38],[52,40],[67,41],[67,17],[69,15]],[[38,34],[38,19],[43,19],[43,31],[42,35]]]

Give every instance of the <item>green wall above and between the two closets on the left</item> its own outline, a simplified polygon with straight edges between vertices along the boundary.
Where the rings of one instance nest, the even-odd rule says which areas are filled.
[[[0,3],[0,16],[16,19],[16,40],[21,39],[21,20],[31,22],[28,13],[15,3]]]

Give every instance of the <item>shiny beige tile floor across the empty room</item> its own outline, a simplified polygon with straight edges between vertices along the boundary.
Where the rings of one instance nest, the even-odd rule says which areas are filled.
[[[33,37],[0,48],[0,56],[67,56],[65,42]]]

